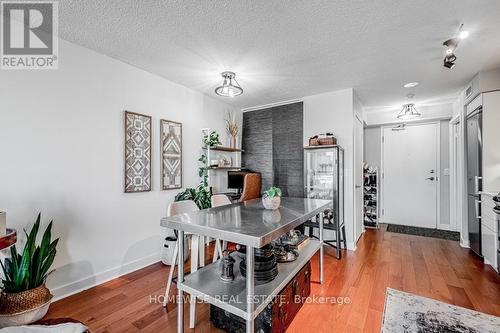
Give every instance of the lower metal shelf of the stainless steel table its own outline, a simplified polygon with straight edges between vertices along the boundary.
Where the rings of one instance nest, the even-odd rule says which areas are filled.
[[[213,264],[184,276],[184,282],[178,283],[177,287],[243,319],[253,320],[272,301],[273,296],[278,295],[286,284],[293,279],[319,248],[320,242],[310,239],[308,244],[299,251],[297,260],[278,264],[278,275],[274,280],[266,283],[255,281],[253,318],[250,318],[247,312],[246,278],[240,272],[241,259],[236,252],[231,254],[236,260],[234,263],[234,281],[224,282],[220,279],[220,260],[217,260]]]

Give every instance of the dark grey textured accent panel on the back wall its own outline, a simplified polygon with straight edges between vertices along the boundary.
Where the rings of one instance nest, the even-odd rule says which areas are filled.
[[[304,195],[303,103],[243,114],[243,164],[262,174],[262,189]]]

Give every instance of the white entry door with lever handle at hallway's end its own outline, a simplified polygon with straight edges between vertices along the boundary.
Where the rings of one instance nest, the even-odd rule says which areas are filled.
[[[384,127],[382,221],[437,228],[439,124]]]

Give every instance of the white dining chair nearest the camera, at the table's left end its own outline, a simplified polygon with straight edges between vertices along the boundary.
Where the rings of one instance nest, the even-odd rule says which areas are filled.
[[[173,215],[178,215],[178,214],[184,214],[184,213],[189,213],[189,212],[194,212],[200,210],[198,206],[194,203],[192,200],[183,200],[183,201],[176,201],[170,203],[168,205],[168,210],[167,210],[167,216],[173,216]],[[205,256],[201,255],[201,251],[205,251],[205,246],[204,246],[204,237],[203,236],[198,236],[194,235],[191,233],[185,233],[186,236],[191,237],[191,273],[196,272],[198,270],[199,266],[205,266],[204,258]],[[201,246],[200,246],[201,243]],[[168,296],[170,294],[170,287],[172,286],[172,279],[174,277],[174,270],[175,266],[178,265],[178,256],[179,254],[179,244],[178,242],[175,243],[175,248],[174,248],[174,253],[172,254],[172,265],[170,266],[170,271],[168,273],[168,280],[167,280],[167,288],[165,289],[165,298],[163,299],[163,306],[167,306],[168,303]],[[200,259],[201,258],[201,259]],[[199,261],[198,261],[199,260]],[[194,322],[195,322],[195,308],[196,308],[196,299],[194,296],[191,296],[190,298],[190,313],[189,313],[189,327],[194,328]]]

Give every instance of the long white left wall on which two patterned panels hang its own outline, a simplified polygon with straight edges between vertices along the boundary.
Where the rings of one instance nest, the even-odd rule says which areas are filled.
[[[224,138],[229,107],[61,40],[60,68],[0,74],[0,210],[21,231],[41,211],[61,238],[55,296],[158,260],[160,218],[179,192],[160,191],[159,119],[183,123],[184,185],[195,186],[200,129]],[[153,190],[123,193],[123,111],[153,116]]]

